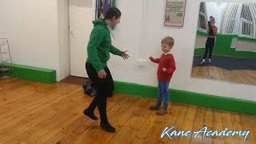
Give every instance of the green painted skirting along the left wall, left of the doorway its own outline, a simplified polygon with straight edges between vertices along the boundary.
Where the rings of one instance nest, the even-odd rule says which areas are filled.
[[[10,64],[6,63],[6,66]],[[33,82],[56,82],[56,70],[13,64],[15,78],[30,80]],[[11,73],[11,71],[10,71]]]

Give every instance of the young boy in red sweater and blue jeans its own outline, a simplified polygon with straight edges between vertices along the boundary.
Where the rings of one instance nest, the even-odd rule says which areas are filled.
[[[169,103],[169,83],[170,78],[173,76],[176,70],[174,55],[170,53],[170,50],[174,46],[174,38],[166,37],[162,39],[162,52],[160,58],[150,57],[151,62],[158,63],[158,102],[155,106],[150,106],[150,110],[159,110],[163,102],[163,109],[158,111],[158,115],[166,114]]]

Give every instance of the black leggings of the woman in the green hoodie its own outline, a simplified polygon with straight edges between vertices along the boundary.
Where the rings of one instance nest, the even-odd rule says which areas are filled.
[[[97,90],[97,94],[93,101],[90,102],[88,109],[93,112],[96,106],[98,106],[101,122],[108,122],[106,116],[106,98],[112,96],[114,82],[108,67],[104,68],[104,70],[106,71],[106,78],[98,78],[98,73],[94,69],[94,66],[86,62],[86,72],[90,78],[90,81],[93,82],[95,90]]]

